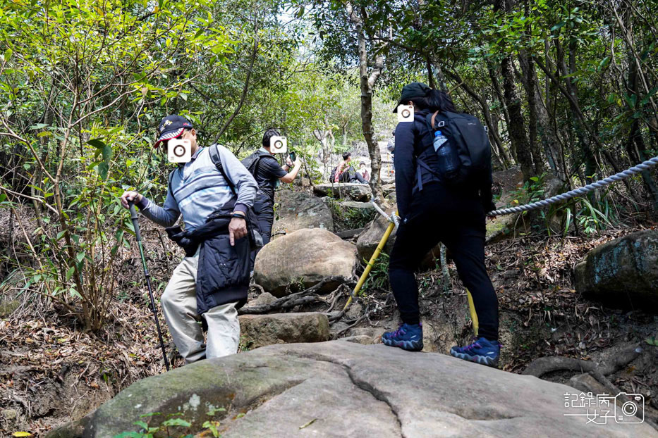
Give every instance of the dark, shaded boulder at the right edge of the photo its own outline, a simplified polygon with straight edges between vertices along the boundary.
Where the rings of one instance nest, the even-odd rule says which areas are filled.
[[[642,230],[592,249],[574,268],[575,289],[609,306],[658,306],[658,230]]]

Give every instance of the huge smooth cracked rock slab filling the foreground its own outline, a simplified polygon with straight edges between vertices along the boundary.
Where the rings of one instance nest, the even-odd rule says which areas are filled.
[[[216,421],[223,438],[658,437],[646,423],[588,423],[592,408],[565,407],[565,394],[578,390],[441,353],[282,344],[135,382],[51,437],[110,438],[169,418],[186,422],[171,436],[209,436]]]

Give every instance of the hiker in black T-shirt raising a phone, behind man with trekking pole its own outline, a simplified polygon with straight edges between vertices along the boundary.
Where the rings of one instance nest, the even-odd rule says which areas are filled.
[[[262,147],[242,161],[245,168],[254,175],[258,184],[258,192],[254,201],[254,213],[256,213],[256,217],[258,218],[263,245],[268,244],[272,238],[274,189],[279,186],[279,181],[286,183],[293,182],[302,165],[299,157],[293,163],[290,156],[286,157],[286,164],[283,167],[279,165],[279,161],[276,161],[274,153],[270,151],[269,146],[269,139],[279,135],[281,134],[277,130],[266,130],[263,134]],[[291,167],[292,170],[288,171]],[[260,248],[252,254],[252,269],[258,251],[260,251]]]

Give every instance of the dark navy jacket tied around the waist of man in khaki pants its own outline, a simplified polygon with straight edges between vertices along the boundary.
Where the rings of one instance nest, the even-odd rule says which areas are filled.
[[[192,231],[183,231],[181,227],[166,228],[169,238],[185,250],[186,256],[193,256],[200,246],[197,268],[199,315],[222,304],[237,301],[240,308],[247,302],[250,254],[252,249],[262,246],[262,237],[255,215],[252,209],[248,209],[248,233],[231,246],[229,223],[232,212],[233,206],[225,206]]]

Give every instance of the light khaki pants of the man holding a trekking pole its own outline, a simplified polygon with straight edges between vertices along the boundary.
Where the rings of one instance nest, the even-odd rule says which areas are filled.
[[[160,299],[169,332],[185,363],[235,354],[240,342],[236,303],[214,307],[201,315],[208,325],[208,340],[204,342],[197,315],[198,263],[198,250],[194,256],[183,258],[173,270]]]

